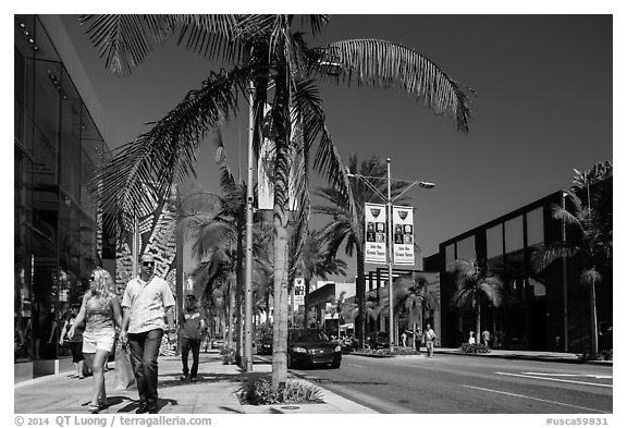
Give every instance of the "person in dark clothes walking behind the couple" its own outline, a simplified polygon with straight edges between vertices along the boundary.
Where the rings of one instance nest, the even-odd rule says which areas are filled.
[[[196,381],[198,376],[198,355],[200,353],[200,342],[202,341],[202,333],[205,332],[205,317],[196,306],[196,296],[187,294],[185,296],[185,310],[182,314],[181,322],[181,358],[183,359],[183,376],[181,380]],[[192,371],[187,365],[187,358],[192,351]]]

